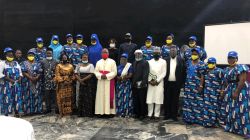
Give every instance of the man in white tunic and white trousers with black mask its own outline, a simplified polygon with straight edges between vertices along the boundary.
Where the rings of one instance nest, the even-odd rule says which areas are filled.
[[[164,77],[166,76],[167,63],[161,58],[161,49],[155,47],[153,50],[153,59],[149,63],[148,77],[148,118],[159,120],[161,105],[164,101]]]

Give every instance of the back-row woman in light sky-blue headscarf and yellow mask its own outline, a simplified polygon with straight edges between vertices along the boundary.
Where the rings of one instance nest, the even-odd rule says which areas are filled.
[[[59,61],[61,52],[63,51],[63,46],[59,42],[58,35],[52,36],[49,48],[53,49],[53,58]]]

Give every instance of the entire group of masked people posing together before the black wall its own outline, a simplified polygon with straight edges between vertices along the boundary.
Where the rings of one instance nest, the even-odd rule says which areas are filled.
[[[84,45],[83,35],[78,34],[74,43],[67,34],[62,46],[53,35],[45,47],[39,37],[27,59],[20,50],[5,48],[5,60],[0,62],[1,114],[58,109],[61,117],[77,112],[84,117],[116,114],[159,120],[163,107],[164,119],[178,121],[183,88],[184,122],[250,133],[249,68],[237,64],[237,52],[228,53],[229,66],[221,69],[214,57],[204,62],[206,51],[195,36],[182,47],[174,44],[173,34],[167,35],[162,47],[154,46],[151,36],[142,47],[132,43],[130,33],[125,40],[116,47],[112,38],[104,48],[96,34],[91,35],[90,46]]]

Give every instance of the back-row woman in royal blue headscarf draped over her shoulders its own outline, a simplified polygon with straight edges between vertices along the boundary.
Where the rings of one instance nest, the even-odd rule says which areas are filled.
[[[88,52],[89,62],[95,66],[96,62],[102,58],[102,45],[100,44],[97,34],[91,35],[91,45],[88,48]]]

